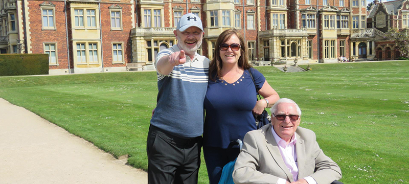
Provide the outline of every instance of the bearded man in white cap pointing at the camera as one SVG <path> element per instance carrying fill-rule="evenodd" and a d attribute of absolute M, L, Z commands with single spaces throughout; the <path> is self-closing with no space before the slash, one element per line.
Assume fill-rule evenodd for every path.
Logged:
<path fill-rule="evenodd" d="M 192 13 L 181 17 L 173 33 L 177 44 L 155 59 L 158 94 L 146 145 L 148 183 L 197 183 L 200 167 L 210 61 L 196 50 L 205 33 Z"/>

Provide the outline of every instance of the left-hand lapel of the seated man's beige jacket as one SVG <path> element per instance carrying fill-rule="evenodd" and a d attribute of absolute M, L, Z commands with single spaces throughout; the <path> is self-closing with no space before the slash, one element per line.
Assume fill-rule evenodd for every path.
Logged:
<path fill-rule="evenodd" d="M 281 156 L 276 139 L 274 139 L 274 135 L 272 135 L 271 133 L 271 128 L 272 126 L 270 124 L 266 132 L 264 132 L 265 138 L 266 138 L 265 141 L 267 142 L 266 144 L 267 149 L 270 152 L 272 158 L 274 158 L 274 160 L 276 161 L 277 165 L 280 166 L 280 168 L 287 175 L 287 179 L 290 180 L 290 182 L 293 182 L 292 174 L 290 173 L 290 171 L 288 170 L 287 166 L 284 163 L 284 160 L 283 160 L 283 157 Z"/>

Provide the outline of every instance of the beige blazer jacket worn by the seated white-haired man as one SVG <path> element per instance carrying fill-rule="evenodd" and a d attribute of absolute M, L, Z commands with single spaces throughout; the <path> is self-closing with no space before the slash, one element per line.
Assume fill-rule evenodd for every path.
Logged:
<path fill-rule="evenodd" d="M 234 183 L 277 183 L 278 178 L 293 181 L 271 127 L 271 124 L 266 125 L 244 136 L 243 148 L 234 167 Z M 313 131 L 298 127 L 296 135 L 299 178 L 311 176 L 318 184 L 329 184 L 342 177 L 338 165 L 318 146 Z"/>

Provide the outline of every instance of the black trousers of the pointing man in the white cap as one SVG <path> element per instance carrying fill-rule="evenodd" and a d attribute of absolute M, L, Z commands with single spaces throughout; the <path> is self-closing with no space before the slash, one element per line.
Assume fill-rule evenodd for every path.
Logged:
<path fill-rule="evenodd" d="M 149 127 L 148 183 L 197 183 L 202 137 L 184 139 L 155 126 Z"/>

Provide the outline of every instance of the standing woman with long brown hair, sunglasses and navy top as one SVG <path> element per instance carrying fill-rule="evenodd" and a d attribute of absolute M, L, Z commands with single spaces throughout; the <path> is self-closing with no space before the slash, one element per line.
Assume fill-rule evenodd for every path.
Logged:
<path fill-rule="evenodd" d="M 209 66 L 209 84 L 205 97 L 203 154 L 210 183 L 218 183 L 223 166 L 234 160 L 240 150 L 232 142 L 257 129 L 254 114 L 261 114 L 280 97 L 264 76 L 248 64 L 246 44 L 235 29 L 223 31 L 217 38 Z M 258 92 L 249 75 L 252 73 Z"/>

